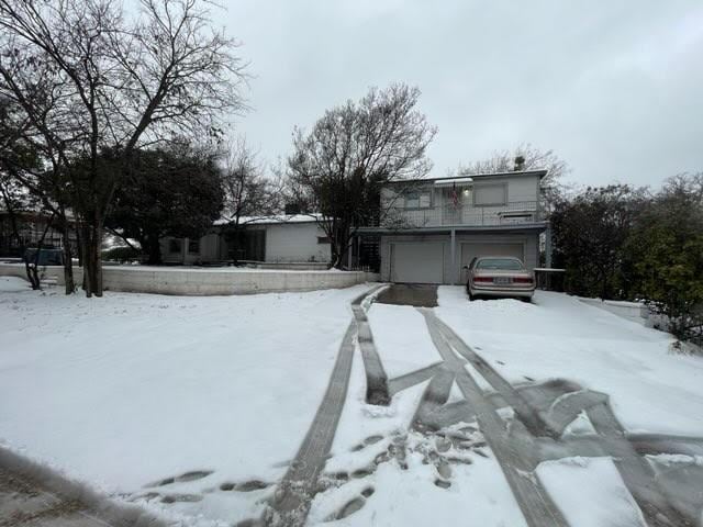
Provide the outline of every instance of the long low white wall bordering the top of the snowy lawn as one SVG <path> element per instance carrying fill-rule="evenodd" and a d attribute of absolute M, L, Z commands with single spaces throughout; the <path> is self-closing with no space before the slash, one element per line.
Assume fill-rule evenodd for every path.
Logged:
<path fill-rule="evenodd" d="M 64 284 L 64 268 L 41 268 L 42 278 Z M 362 271 L 284 271 L 265 269 L 193 269 L 182 267 L 104 266 L 105 291 L 134 293 L 226 295 L 286 291 L 342 289 L 357 283 L 378 281 L 378 274 Z M 80 283 L 82 270 L 74 268 Z M 24 266 L 0 265 L 0 276 L 25 278 Z"/>

